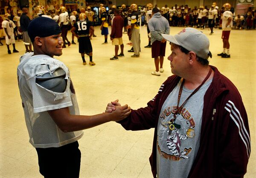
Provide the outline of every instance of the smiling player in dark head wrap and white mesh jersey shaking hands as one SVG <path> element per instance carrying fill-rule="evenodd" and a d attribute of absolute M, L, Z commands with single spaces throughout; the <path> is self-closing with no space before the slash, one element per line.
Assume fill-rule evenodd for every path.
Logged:
<path fill-rule="evenodd" d="M 29 142 L 38 153 L 44 177 L 79 178 L 81 130 L 123 119 L 130 108 L 125 105 L 112 114 L 80 116 L 69 69 L 53 58 L 62 54 L 58 24 L 37 17 L 29 23 L 28 33 L 35 52 L 20 57 L 17 76 Z"/>

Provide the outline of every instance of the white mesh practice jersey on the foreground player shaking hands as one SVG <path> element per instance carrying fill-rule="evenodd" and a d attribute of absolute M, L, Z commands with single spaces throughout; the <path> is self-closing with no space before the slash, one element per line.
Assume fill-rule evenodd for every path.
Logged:
<path fill-rule="evenodd" d="M 47 55 L 24 54 L 20 57 L 17 68 L 20 97 L 24 110 L 29 142 L 33 147 L 61 147 L 77 141 L 83 131 L 62 132 L 55 124 L 48 110 L 69 107 L 70 114 L 79 115 L 75 90 L 68 68 L 61 62 Z M 36 76 L 52 73 L 62 68 L 66 72 L 67 87 L 63 93 L 56 93 L 36 83 Z"/>

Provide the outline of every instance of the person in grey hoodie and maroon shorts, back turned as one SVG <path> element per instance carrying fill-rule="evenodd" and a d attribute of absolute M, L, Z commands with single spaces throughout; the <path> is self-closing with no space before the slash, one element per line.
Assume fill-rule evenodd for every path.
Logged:
<path fill-rule="evenodd" d="M 152 75 L 160 76 L 160 72 L 163 72 L 163 57 L 165 56 L 166 40 L 161 34 L 169 34 L 170 26 L 168 20 L 163 17 L 158 8 L 152 9 L 152 18 L 148 21 L 148 28 L 151 34 L 151 54 L 154 58 L 154 64 L 156 70 L 151 72 Z M 160 71 L 159 71 L 160 62 Z"/>

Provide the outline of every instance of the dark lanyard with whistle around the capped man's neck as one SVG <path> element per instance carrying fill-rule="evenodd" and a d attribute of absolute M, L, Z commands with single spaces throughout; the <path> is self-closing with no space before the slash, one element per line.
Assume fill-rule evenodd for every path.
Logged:
<path fill-rule="evenodd" d="M 173 117 L 172 119 L 169 121 L 169 129 L 170 130 L 174 130 L 175 129 L 175 125 L 174 125 L 174 121 L 177 117 L 177 114 L 180 112 L 180 110 L 183 108 L 183 106 L 185 105 L 185 103 L 189 100 L 189 98 L 191 96 L 193 96 L 200 88 L 202 85 L 204 85 L 204 83 L 207 81 L 207 79 L 209 78 L 209 76 L 211 75 L 212 73 L 212 68 L 210 68 L 207 76 L 205 77 L 205 79 L 203 80 L 203 82 L 201 83 L 201 85 L 198 86 L 198 88 L 196 88 L 190 95 L 189 97 L 183 102 L 182 105 L 180 105 L 179 107 L 179 104 L 180 104 L 180 97 L 181 97 L 181 93 L 182 93 L 182 90 L 183 90 L 183 85 L 184 85 L 184 82 L 185 82 L 185 79 L 183 79 L 181 85 L 180 85 L 180 90 L 179 90 L 179 96 L 178 96 L 178 102 L 177 102 L 177 110 L 175 111 L 175 113 L 173 114 Z"/>

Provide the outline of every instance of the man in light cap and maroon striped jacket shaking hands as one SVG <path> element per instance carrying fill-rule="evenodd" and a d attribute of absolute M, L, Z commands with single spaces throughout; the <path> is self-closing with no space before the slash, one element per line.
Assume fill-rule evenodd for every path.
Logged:
<path fill-rule="evenodd" d="M 118 123 L 126 130 L 154 128 L 150 157 L 154 178 L 243 177 L 250 131 L 241 95 L 209 65 L 209 39 L 195 28 L 171 36 L 172 73 L 148 106 Z M 107 112 L 119 106 L 108 104 Z"/>

